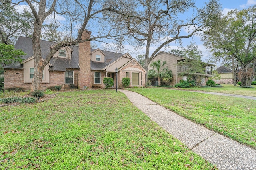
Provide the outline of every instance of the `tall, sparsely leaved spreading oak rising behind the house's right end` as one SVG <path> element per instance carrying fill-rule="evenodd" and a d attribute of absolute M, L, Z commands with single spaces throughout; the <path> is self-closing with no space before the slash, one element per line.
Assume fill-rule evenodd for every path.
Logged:
<path fill-rule="evenodd" d="M 217 0 L 210 0 L 202 8 L 194 0 L 108 0 L 120 15 L 109 15 L 120 29 L 128 29 L 131 44 L 146 46 L 145 69 L 166 45 L 189 38 L 215 22 L 220 13 Z M 150 55 L 152 45 L 157 45 Z M 146 75 L 147 80 L 147 75 Z"/>

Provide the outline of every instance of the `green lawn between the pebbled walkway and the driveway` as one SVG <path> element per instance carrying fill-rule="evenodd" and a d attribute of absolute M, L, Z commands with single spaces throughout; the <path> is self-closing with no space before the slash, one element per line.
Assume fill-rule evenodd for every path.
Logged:
<path fill-rule="evenodd" d="M 164 88 L 129 90 L 256 149 L 256 100 Z"/>

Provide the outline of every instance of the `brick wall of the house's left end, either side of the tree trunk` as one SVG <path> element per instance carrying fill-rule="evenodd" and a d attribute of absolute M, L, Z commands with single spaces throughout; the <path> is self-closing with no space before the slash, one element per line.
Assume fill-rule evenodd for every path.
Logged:
<path fill-rule="evenodd" d="M 41 89 L 45 90 L 54 86 L 64 85 L 64 72 L 50 72 L 50 83 L 42 83 Z M 4 89 L 22 88 L 30 90 L 31 83 L 24 83 L 24 76 L 22 69 L 5 69 L 4 71 Z M 64 86 L 62 86 L 62 89 Z"/>

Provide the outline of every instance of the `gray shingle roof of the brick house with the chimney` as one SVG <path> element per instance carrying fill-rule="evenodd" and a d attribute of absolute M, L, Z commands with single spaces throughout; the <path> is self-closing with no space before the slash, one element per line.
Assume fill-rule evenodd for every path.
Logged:
<path fill-rule="evenodd" d="M 42 58 L 45 59 L 46 55 L 50 51 L 50 47 L 52 45 L 54 45 L 54 42 L 41 40 L 40 43 L 41 43 Z M 15 49 L 22 49 L 22 51 L 24 51 L 24 53 L 27 54 L 25 56 L 21 56 L 21 58 L 24 60 L 33 56 L 32 38 L 20 36 L 14 47 L 15 47 Z M 50 70 L 66 71 L 66 68 L 68 68 L 68 69 L 78 69 L 79 68 L 79 66 L 78 66 L 78 64 L 79 64 L 79 56 L 78 56 L 79 47 L 78 46 L 70 46 L 70 48 L 72 50 L 71 59 L 52 57 L 52 59 L 50 60 L 50 64 L 52 64 L 53 66 L 50 67 Z M 95 51 L 95 50 L 96 49 L 91 49 L 91 52 Z M 121 53 L 114 53 L 114 52 L 104 51 L 104 50 L 102 50 L 102 52 L 106 54 L 105 62 L 100 63 L 100 62 L 91 61 L 91 70 L 102 70 L 102 68 L 113 63 L 114 61 L 116 61 L 118 58 L 120 58 L 122 56 Z M 4 68 L 22 69 L 23 64 L 13 63 L 13 64 L 4 66 Z"/>

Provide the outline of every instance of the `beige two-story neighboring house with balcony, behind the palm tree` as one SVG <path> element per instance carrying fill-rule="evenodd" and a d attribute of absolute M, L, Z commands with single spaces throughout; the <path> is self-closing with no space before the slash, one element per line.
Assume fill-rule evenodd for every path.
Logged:
<path fill-rule="evenodd" d="M 166 61 L 167 62 L 166 66 L 168 67 L 169 70 L 172 70 L 173 79 L 172 79 L 171 85 L 177 84 L 178 82 L 180 82 L 180 80 L 187 80 L 189 74 L 191 74 L 191 76 L 194 75 L 194 77 L 197 79 L 196 82 L 201 82 L 201 85 L 205 85 L 208 78 L 212 77 L 212 68 L 214 66 L 213 64 L 200 62 L 204 72 L 191 73 L 188 69 L 192 69 L 192 68 L 189 68 L 186 64 L 184 64 L 185 60 L 191 60 L 191 59 L 188 59 L 186 57 L 182 57 L 179 55 L 175 55 L 172 53 L 160 51 L 155 55 L 155 57 L 152 59 L 150 64 L 153 61 L 157 61 L 158 59 L 160 59 L 161 61 Z M 149 68 L 148 70 L 150 69 L 151 68 Z M 153 83 L 157 84 L 157 82 L 153 82 Z"/>

